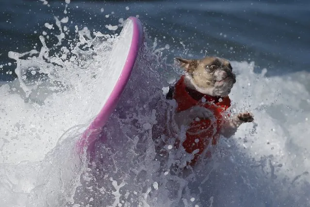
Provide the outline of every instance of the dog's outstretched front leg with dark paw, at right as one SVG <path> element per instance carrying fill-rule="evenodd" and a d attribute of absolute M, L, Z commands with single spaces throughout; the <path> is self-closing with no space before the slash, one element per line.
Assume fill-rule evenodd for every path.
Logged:
<path fill-rule="evenodd" d="M 221 129 L 221 134 L 226 138 L 230 138 L 237 132 L 238 127 L 242 123 L 252 121 L 254 121 L 253 114 L 249 112 L 239 113 L 233 116 L 232 119 L 224 121 Z"/>

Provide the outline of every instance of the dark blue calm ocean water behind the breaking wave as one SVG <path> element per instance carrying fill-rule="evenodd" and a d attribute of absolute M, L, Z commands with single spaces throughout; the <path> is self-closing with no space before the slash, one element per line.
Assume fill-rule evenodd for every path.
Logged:
<path fill-rule="evenodd" d="M 0 64 L 10 62 L 8 51 L 29 51 L 40 44 L 38 36 L 44 23 L 62 14 L 65 4 L 61 0 L 50 3 L 52 6 L 46 7 L 39 1 L 2 0 Z M 106 18 L 111 12 L 114 15 Z M 149 35 L 164 40 L 172 48 L 174 40 L 180 40 L 197 57 L 206 53 L 236 61 L 255 61 L 260 68 L 267 68 L 270 75 L 309 71 L 308 0 L 75 0 L 68 12 L 74 24 L 90 30 L 100 30 L 121 17 L 136 15 Z M 181 48 L 171 52 L 171 58 L 182 52 Z M 0 80 L 12 79 L 6 75 L 12 68 L 5 66 Z"/>

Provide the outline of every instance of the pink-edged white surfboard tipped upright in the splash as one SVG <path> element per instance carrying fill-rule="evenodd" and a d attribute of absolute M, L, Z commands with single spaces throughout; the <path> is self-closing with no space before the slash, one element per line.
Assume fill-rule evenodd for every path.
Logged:
<path fill-rule="evenodd" d="M 102 88 L 102 92 L 109 94 L 108 98 L 102 101 L 100 112 L 77 142 L 77 149 L 80 153 L 83 153 L 84 149 L 87 149 L 87 152 L 93 151 L 102 127 L 109 119 L 121 93 L 129 81 L 142 42 L 143 27 L 140 20 L 136 17 L 129 17 L 110 55 L 109 63 L 113 72 L 105 77 L 110 85 L 109 88 Z"/>

